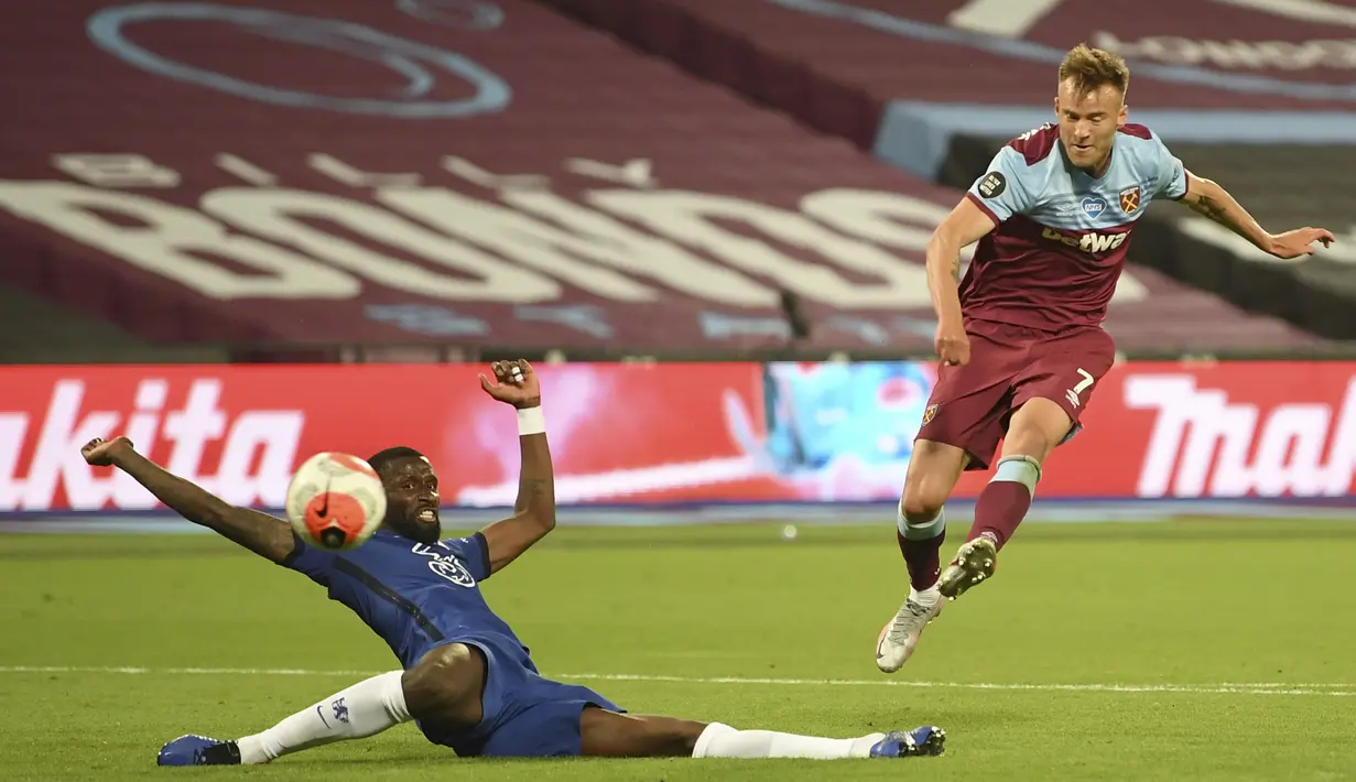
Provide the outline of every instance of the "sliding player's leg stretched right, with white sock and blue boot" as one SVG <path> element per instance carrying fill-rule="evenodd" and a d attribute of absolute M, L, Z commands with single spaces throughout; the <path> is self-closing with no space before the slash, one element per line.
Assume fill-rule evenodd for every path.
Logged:
<path fill-rule="evenodd" d="M 933 726 L 823 739 L 603 709 L 584 709 L 579 732 L 582 754 L 597 758 L 913 758 L 941 755 L 946 741 L 945 732 Z"/>

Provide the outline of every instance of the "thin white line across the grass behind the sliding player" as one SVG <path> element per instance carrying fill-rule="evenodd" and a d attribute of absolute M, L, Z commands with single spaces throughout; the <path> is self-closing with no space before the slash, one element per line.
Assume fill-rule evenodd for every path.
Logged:
<path fill-rule="evenodd" d="M 137 668 L 81 665 L 4 665 L 0 674 L 133 674 L 218 676 L 376 676 L 385 671 L 311 668 Z M 1166 693 L 1193 695 L 1336 695 L 1356 697 L 1356 683 L 1294 684 L 1285 682 L 1224 684 L 1020 684 L 998 682 L 917 682 L 911 679 L 759 679 L 746 676 L 664 676 L 652 674 L 553 674 L 556 679 L 594 682 L 662 682 L 675 684 L 765 684 L 780 687 L 914 687 L 1035 693 Z"/>

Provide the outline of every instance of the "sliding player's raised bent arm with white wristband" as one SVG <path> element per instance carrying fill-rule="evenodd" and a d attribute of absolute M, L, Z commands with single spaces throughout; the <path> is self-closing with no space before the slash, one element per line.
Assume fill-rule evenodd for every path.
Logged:
<path fill-rule="evenodd" d="M 503 569 L 556 529 L 556 477 L 541 416 L 541 385 L 532 365 L 525 361 L 495 362 L 494 371 L 496 382 L 491 384 L 481 375 L 480 386 L 494 398 L 517 408 L 522 469 L 514 515 L 481 530 L 490 552 L 491 573 Z"/>

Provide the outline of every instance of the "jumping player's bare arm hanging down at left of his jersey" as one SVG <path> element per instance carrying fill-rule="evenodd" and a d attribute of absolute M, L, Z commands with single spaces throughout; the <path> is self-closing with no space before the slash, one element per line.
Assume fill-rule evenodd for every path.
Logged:
<path fill-rule="evenodd" d="M 970 361 L 970 340 L 960 316 L 960 251 L 983 239 L 995 226 L 967 195 L 928 240 L 928 291 L 937 312 L 937 356 L 944 363 Z"/>

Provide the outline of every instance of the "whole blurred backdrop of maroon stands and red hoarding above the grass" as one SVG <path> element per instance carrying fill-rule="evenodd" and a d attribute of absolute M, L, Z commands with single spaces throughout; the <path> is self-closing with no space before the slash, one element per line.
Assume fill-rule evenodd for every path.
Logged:
<path fill-rule="evenodd" d="M 1078 42 L 1264 226 L 1338 244 L 1153 206 L 1033 515 L 1349 512 L 1349 3 L 64 0 L 0 8 L 0 515 L 161 523 L 80 461 L 127 432 L 268 508 L 311 453 L 414 446 L 473 519 L 518 466 L 476 374 L 522 356 L 567 520 L 884 523 L 923 245 Z"/>

